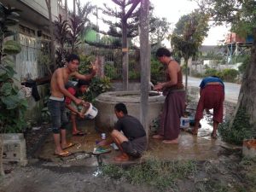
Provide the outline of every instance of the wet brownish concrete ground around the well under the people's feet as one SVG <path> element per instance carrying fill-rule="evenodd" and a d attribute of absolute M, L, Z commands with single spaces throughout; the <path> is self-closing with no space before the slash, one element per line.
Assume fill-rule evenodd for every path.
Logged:
<path fill-rule="evenodd" d="M 154 156 L 161 160 L 210 160 L 218 157 L 218 151 L 222 147 L 227 147 L 228 144 L 221 142 L 218 138 L 214 140 L 210 137 L 212 132 L 212 115 L 205 115 L 201 119 L 201 129 L 198 136 L 192 136 L 186 131 L 181 131 L 178 144 L 164 144 L 160 140 L 154 140 L 149 137 L 148 150 L 145 155 Z M 119 151 L 111 148 L 108 154 L 94 155 L 93 149 L 96 147 L 96 141 L 101 140 L 101 132 L 96 131 L 93 120 L 79 121 L 79 130 L 86 132 L 86 135 L 72 136 L 70 130 L 67 131 L 67 140 L 76 143 L 68 151 L 73 154 L 60 158 L 54 154 L 54 140 L 52 134 L 45 140 L 43 147 L 38 150 L 36 156 L 41 160 L 47 160 L 55 164 L 67 164 L 68 166 L 98 166 L 99 164 L 120 164 L 113 160 L 114 156 L 119 154 Z M 107 138 L 109 133 L 107 133 Z M 142 158 L 143 159 L 143 158 Z M 129 160 L 121 162 L 122 165 L 134 164 L 140 161 Z"/>

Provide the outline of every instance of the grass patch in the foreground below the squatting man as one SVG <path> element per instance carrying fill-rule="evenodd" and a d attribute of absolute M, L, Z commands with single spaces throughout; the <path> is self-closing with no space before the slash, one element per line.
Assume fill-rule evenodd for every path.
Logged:
<path fill-rule="evenodd" d="M 196 172 L 194 161 L 163 161 L 150 158 L 144 162 L 123 168 L 102 166 L 102 174 L 112 178 L 125 178 L 132 184 L 145 184 L 160 191 L 176 188 L 177 179 L 189 177 Z"/>

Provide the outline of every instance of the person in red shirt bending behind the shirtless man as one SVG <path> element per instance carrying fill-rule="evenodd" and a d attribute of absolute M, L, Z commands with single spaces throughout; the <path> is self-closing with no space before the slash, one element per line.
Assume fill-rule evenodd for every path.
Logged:
<path fill-rule="evenodd" d="M 76 85 L 73 85 L 72 83 L 67 83 L 66 84 L 66 89 L 70 94 L 73 96 L 79 98 L 80 96 L 83 96 L 83 94 L 88 90 L 90 82 L 85 81 L 82 79 L 79 79 L 79 82 Z M 77 116 L 79 118 L 84 119 L 84 114 L 81 113 L 81 108 L 77 106 L 70 97 L 66 96 L 65 99 L 65 105 L 66 108 L 70 110 L 70 119 L 72 122 L 72 134 L 73 136 L 84 136 L 84 133 L 82 131 L 79 131 L 77 128 Z M 86 108 L 89 108 L 90 103 L 89 102 L 84 102 L 84 106 Z"/>

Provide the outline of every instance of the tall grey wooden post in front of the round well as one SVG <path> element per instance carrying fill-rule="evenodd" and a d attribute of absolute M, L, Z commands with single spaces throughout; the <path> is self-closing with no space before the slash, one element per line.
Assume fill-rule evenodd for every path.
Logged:
<path fill-rule="evenodd" d="M 141 1 L 141 15 L 140 15 L 140 47 L 141 47 L 141 122 L 147 133 L 149 131 L 148 125 L 148 88 L 150 79 L 150 46 L 148 40 L 148 0 Z"/>

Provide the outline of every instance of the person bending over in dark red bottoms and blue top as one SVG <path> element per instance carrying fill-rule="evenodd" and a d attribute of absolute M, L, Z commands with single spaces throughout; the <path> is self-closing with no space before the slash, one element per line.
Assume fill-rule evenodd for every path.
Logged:
<path fill-rule="evenodd" d="M 223 121 L 224 110 L 224 83 L 216 76 L 202 79 L 200 84 L 200 99 L 195 113 L 195 127 L 189 133 L 197 135 L 200 120 L 203 118 L 203 111 L 213 108 L 213 131 L 211 137 L 217 138 L 218 124 Z"/>

